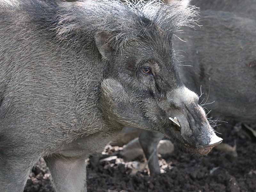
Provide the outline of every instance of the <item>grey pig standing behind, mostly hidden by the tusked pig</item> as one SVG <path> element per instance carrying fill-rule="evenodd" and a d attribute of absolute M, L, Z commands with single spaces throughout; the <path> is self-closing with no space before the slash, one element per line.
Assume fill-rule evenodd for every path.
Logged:
<path fill-rule="evenodd" d="M 184 29 L 178 36 L 185 42 L 174 41 L 174 48 L 185 52 L 179 52 L 184 55 L 184 66 L 179 68 L 182 81 L 197 94 L 204 93 L 199 103 L 212 110 L 211 116 L 255 123 L 256 1 L 194 0 L 191 4 L 201 7 L 202 26 Z M 155 149 L 162 138 L 161 133 L 147 131 L 139 137 L 146 157 L 155 153 L 148 164 L 151 174 L 160 173 Z"/>

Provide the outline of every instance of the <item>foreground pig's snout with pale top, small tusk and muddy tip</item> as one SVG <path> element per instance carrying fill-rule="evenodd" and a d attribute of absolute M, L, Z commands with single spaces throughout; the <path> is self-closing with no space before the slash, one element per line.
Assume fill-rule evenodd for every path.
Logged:
<path fill-rule="evenodd" d="M 206 155 L 222 142 L 209 124 L 203 108 L 198 105 L 198 96 L 184 87 L 173 94 L 174 108 L 168 115 L 176 134 L 192 153 Z"/>

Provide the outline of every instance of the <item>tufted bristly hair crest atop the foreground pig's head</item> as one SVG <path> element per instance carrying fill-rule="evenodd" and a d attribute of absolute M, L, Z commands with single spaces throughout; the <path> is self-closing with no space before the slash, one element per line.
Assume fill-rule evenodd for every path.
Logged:
<path fill-rule="evenodd" d="M 194 6 L 164 4 L 161 0 L 86 0 L 61 3 L 52 27 L 61 40 L 75 34 L 76 41 L 89 42 L 87 45 L 92 44 L 96 33 L 104 31 L 108 43 L 122 51 L 126 43 L 140 38 L 154 40 L 161 36 L 171 42 L 181 26 L 194 27 L 197 16 Z"/>

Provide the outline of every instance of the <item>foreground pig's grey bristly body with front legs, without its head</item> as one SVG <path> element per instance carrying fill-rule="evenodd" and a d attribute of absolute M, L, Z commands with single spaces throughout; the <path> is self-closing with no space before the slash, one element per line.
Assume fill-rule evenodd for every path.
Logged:
<path fill-rule="evenodd" d="M 42 156 L 57 192 L 84 191 L 84 160 L 111 138 L 98 107 L 104 64 L 93 52 L 56 44 L 46 29 L 46 20 L 56 14 L 49 10 L 58 6 L 55 1 L 5 3 L 0 3 L 5 34 L 0 40 L 0 191 L 21 192 Z M 70 177 L 73 183 L 65 182 Z"/>

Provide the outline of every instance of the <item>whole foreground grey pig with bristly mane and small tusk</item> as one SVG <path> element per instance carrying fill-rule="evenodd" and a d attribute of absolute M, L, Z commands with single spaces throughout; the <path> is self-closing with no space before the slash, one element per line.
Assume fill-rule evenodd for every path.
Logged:
<path fill-rule="evenodd" d="M 196 15 L 156 1 L 1 0 L 0 191 L 21 192 L 40 157 L 56 192 L 86 191 L 85 159 L 124 126 L 199 154 L 219 144 L 172 48 Z"/>

